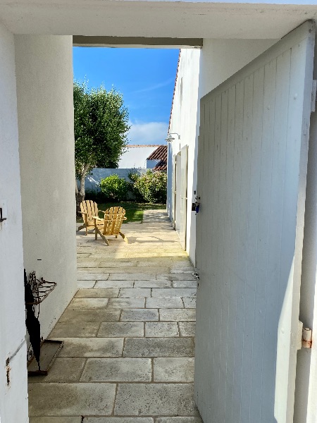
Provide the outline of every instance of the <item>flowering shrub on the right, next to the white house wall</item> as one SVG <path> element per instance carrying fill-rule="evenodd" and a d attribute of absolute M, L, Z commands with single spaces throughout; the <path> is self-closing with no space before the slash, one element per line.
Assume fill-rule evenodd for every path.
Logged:
<path fill-rule="evenodd" d="M 144 202 L 166 204 L 166 187 L 166 173 L 149 170 L 135 178 L 133 190 L 137 199 Z"/>

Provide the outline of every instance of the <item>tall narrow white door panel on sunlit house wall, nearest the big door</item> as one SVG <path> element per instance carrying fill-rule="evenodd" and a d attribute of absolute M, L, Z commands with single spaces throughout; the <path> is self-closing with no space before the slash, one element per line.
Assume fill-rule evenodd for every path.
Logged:
<path fill-rule="evenodd" d="M 186 250 L 188 146 L 180 151 L 180 245 Z"/>

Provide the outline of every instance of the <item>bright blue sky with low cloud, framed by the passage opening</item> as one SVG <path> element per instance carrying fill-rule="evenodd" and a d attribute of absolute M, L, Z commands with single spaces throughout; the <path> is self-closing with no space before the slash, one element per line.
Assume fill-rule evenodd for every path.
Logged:
<path fill-rule="evenodd" d="M 177 49 L 73 48 L 74 78 L 123 94 L 130 144 L 163 144 L 168 132 Z"/>

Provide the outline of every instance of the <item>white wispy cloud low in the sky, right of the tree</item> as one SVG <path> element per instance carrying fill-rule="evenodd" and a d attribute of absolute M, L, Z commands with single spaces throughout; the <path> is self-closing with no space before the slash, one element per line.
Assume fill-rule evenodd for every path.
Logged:
<path fill-rule="evenodd" d="M 163 144 L 168 133 L 166 122 L 130 122 L 130 125 L 130 144 Z"/>

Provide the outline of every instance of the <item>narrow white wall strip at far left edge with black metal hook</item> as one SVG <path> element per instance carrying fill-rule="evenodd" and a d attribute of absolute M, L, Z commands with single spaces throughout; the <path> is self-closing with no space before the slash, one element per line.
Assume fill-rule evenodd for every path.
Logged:
<path fill-rule="evenodd" d="M 0 421 L 25 423 L 27 370 L 23 242 L 13 35 L 0 25 Z M 0 204 L 0 207 L 1 207 Z M 10 357 L 10 383 L 6 360 Z"/>

